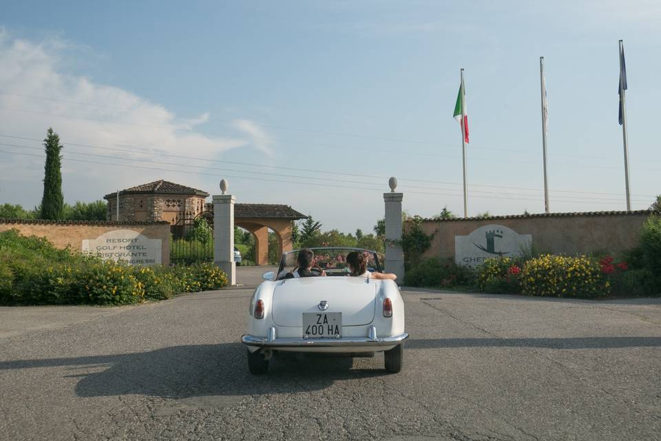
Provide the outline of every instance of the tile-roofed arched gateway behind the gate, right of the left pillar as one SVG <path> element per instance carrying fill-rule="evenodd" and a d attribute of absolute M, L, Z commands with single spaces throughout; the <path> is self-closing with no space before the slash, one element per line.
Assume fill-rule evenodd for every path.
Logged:
<path fill-rule="evenodd" d="M 255 236 L 255 263 L 269 264 L 269 228 L 277 236 L 278 255 L 291 251 L 291 226 L 293 220 L 304 219 L 288 205 L 235 204 L 234 225 L 248 230 Z"/>

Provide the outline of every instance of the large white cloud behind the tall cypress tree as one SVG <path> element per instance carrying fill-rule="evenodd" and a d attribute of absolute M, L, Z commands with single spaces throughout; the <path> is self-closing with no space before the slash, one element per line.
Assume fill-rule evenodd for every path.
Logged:
<path fill-rule="evenodd" d="M 130 187 L 159 178 L 183 179 L 182 183 L 202 189 L 204 183 L 209 181 L 208 177 L 194 173 L 182 178 L 182 174 L 162 170 L 104 167 L 102 164 L 71 161 L 73 158 L 105 164 L 122 163 L 124 158 L 182 163 L 181 160 L 155 158 L 145 153 L 216 158 L 218 154 L 237 147 L 256 147 L 271 153 L 269 136 L 252 121 L 234 123 L 244 136 L 203 134 L 197 130 L 209 121 L 210 116 L 206 112 L 195 118 L 180 118 L 162 105 L 132 92 L 67 72 L 70 65 L 67 50 L 72 47 L 75 48 L 75 45 L 56 37 L 41 42 L 15 39 L 0 28 L 0 134 L 43 139 L 48 127 L 53 127 L 65 145 L 63 181 L 67 201 L 70 198 L 100 198 L 117 187 Z M 41 147 L 38 141 L 2 136 L 0 143 Z M 133 152 L 104 152 L 76 147 L 73 143 L 117 147 Z M 16 202 L 30 205 L 41 198 L 41 194 L 33 194 L 34 187 L 38 185 L 21 185 L 20 181 L 36 178 L 40 183 L 43 158 L 9 155 L 8 148 L 19 150 L 0 145 L 0 157 L 3 158 L 0 197 L 3 200 L 13 197 Z M 31 149 L 25 149 L 23 153 L 43 155 L 43 152 Z M 103 154 L 116 156 L 116 159 L 74 153 Z M 208 162 L 185 160 L 185 164 L 207 165 Z M 176 165 L 143 165 L 178 168 Z M 186 171 L 191 172 L 191 169 Z"/>

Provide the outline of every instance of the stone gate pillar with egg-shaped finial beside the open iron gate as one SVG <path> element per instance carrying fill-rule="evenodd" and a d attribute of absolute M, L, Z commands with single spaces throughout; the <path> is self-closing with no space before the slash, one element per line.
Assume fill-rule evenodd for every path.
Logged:
<path fill-rule="evenodd" d="M 225 194 L 227 181 L 220 181 L 222 194 L 213 196 L 213 263 L 227 274 L 229 285 L 236 285 L 234 263 L 234 196 Z"/>

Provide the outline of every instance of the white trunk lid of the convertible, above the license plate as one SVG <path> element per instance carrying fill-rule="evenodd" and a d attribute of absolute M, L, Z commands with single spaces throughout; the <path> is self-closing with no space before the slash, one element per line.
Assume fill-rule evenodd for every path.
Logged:
<path fill-rule="evenodd" d="M 303 313 L 341 312 L 342 326 L 368 325 L 374 320 L 377 283 L 361 277 L 306 277 L 284 280 L 273 291 L 273 322 L 302 327 Z"/>

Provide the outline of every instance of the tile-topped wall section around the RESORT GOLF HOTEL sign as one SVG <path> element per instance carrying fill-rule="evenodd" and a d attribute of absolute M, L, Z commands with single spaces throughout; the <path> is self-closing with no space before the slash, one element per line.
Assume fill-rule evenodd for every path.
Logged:
<path fill-rule="evenodd" d="M 7 220 L 0 219 L 0 232 L 17 229 L 24 236 L 45 237 L 57 248 L 81 250 L 83 239 L 98 236 L 116 229 L 130 229 L 150 239 L 162 242 L 162 265 L 170 264 L 170 225 L 167 222 L 110 222 L 86 220 Z"/>

